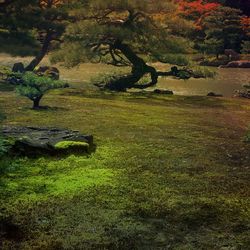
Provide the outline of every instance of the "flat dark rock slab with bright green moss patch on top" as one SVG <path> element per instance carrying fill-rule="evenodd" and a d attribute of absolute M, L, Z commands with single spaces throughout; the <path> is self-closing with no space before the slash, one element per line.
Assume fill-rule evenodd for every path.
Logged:
<path fill-rule="evenodd" d="M 5 126 L 2 134 L 11 141 L 14 154 L 89 153 L 94 146 L 92 135 L 58 128 Z"/>

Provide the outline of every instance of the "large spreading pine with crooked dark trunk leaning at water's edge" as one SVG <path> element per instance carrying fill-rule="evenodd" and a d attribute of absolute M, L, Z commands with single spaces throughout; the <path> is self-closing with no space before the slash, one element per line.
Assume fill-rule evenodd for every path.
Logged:
<path fill-rule="evenodd" d="M 169 72 L 160 72 L 145 62 L 150 58 L 167 63 L 169 54 L 180 59 L 179 54 L 188 51 L 189 42 L 178 34 L 172 22 L 175 11 L 172 1 L 90 1 L 80 11 L 81 21 L 68 27 L 66 43 L 56 59 L 70 66 L 84 61 L 130 66 L 129 74 L 114 77 L 103 86 L 117 91 L 154 86 L 159 76 L 182 78 L 184 71 L 185 77 L 191 77 L 192 71 L 173 67 Z M 186 61 L 185 57 L 179 61 Z M 150 81 L 138 83 L 145 75 L 150 76 Z"/>

